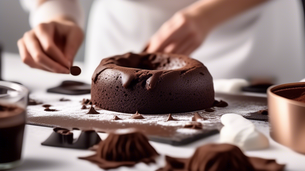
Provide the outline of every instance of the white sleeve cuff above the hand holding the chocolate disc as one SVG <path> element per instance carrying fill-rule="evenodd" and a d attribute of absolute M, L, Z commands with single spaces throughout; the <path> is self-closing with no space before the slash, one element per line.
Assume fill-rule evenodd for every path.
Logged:
<path fill-rule="evenodd" d="M 39 0 L 20 0 L 20 4 L 24 10 L 30 12 L 29 22 L 32 28 L 59 16 L 72 19 L 84 28 L 84 11 L 78 0 L 48 0 L 41 5 Z"/>

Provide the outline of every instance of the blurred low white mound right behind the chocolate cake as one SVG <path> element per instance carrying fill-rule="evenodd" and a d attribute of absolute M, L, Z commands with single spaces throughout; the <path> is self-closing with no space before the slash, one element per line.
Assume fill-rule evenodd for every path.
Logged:
<path fill-rule="evenodd" d="M 242 87 L 249 86 L 249 82 L 245 79 L 216 79 L 213 80 L 215 92 L 241 92 Z"/>

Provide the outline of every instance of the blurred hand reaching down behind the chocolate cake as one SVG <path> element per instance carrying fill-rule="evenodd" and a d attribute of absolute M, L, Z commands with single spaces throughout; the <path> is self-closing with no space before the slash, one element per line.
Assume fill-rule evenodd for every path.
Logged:
<path fill-rule="evenodd" d="M 188 12 L 177 12 L 151 37 L 146 52 L 191 54 L 205 39 L 210 27 Z"/>

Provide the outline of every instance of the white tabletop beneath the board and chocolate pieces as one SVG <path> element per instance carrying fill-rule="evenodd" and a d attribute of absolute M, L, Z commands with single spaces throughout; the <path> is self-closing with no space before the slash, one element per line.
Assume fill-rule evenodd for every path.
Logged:
<path fill-rule="evenodd" d="M 2 78 L 8 81 L 21 82 L 27 86 L 30 91 L 38 89 L 46 89 L 58 85 L 63 80 L 79 80 L 86 82 L 90 81 L 89 77 L 85 77 L 82 73 L 79 76 L 53 74 L 37 69 L 31 69 L 24 65 L 19 55 L 4 53 L 2 55 Z M 75 63 L 75 65 L 82 68 L 82 63 Z M 270 148 L 259 151 L 247 151 L 248 156 L 256 156 L 268 159 L 276 159 L 278 163 L 286 164 L 286 170 L 289 171 L 301 171 L 305 170 L 305 155 L 293 152 L 289 148 L 282 146 L 273 141 L 269 136 L 268 124 L 262 121 L 255 121 L 255 125 L 258 130 L 262 131 L 270 140 Z M 23 143 L 23 164 L 15 169 L 18 171 L 78 171 L 78 170 L 102 170 L 90 162 L 77 159 L 80 156 L 91 155 L 94 152 L 88 150 L 76 150 L 68 148 L 56 148 L 42 146 L 43 142 L 52 133 L 50 127 L 40 127 L 33 125 L 26 125 L 25 137 Z M 79 132 L 76 132 L 77 136 Z M 100 134 L 101 138 L 106 138 L 106 134 Z M 217 142 L 219 134 L 196 141 L 189 145 L 184 146 L 171 146 L 167 144 L 152 142 L 152 146 L 161 155 L 170 155 L 174 157 L 189 157 L 192 155 L 196 147 L 204 145 L 206 143 Z M 149 166 L 144 163 L 137 164 L 133 168 L 120 167 L 113 170 L 155 170 L 162 165 L 162 157 L 160 157 L 157 164 L 151 164 Z M 159 166 L 158 166 L 159 165 Z"/>

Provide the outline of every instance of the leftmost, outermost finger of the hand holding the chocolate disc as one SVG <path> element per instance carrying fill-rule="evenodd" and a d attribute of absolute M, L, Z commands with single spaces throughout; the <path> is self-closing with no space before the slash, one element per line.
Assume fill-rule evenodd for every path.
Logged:
<path fill-rule="evenodd" d="M 24 44 L 23 39 L 19 39 L 17 41 L 17 46 L 18 46 L 18 50 L 19 50 L 19 54 L 21 57 L 21 60 L 23 61 L 23 63 L 27 64 L 28 66 L 30 66 L 31 68 L 37 68 L 37 69 L 41 69 L 41 70 L 45 70 L 45 71 L 49 71 L 43 67 L 41 67 L 40 65 L 37 65 L 35 63 L 35 61 L 33 60 L 33 58 L 31 57 L 31 55 L 29 54 L 29 52 L 27 51 L 27 48 Z M 49 71 L 50 72 L 50 71 Z"/>

